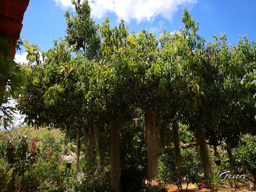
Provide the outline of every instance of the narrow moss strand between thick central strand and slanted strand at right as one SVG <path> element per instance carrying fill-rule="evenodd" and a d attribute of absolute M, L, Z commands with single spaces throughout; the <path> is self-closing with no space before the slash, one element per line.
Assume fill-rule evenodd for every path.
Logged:
<path fill-rule="evenodd" d="M 176 120 L 173 121 L 172 127 L 172 138 L 174 144 L 174 152 L 175 152 L 175 163 L 176 163 L 176 176 L 178 178 L 177 184 L 181 189 L 182 182 L 182 157 L 180 153 L 180 135 L 178 131 L 178 123 Z"/>

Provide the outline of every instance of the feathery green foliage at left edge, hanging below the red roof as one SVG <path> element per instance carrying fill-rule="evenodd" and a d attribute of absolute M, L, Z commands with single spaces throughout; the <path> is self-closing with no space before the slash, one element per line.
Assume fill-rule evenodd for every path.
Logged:
<path fill-rule="evenodd" d="M 16 43 L 16 42 L 15 42 Z M 3 126 L 7 128 L 14 119 L 15 107 L 11 99 L 18 97 L 22 86 L 26 83 L 23 66 L 14 61 L 13 42 L 8 34 L 0 35 L 0 111 L 3 116 Z M 23 41 L 19 39 L 17 49 Z"/>

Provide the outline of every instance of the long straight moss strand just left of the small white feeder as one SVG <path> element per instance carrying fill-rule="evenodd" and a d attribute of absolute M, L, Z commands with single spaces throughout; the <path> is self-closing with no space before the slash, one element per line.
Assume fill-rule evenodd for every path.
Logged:
<path fill-rule="evenodd" d="M 114 121 L 110 128 L 110 177 L 111 187 L 114 192 L 119 191 L 120 183 L 120 165 L 119 165 L 119 127 L 117 121 Z"/>

